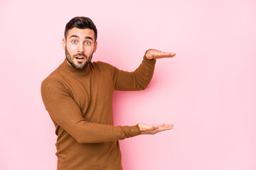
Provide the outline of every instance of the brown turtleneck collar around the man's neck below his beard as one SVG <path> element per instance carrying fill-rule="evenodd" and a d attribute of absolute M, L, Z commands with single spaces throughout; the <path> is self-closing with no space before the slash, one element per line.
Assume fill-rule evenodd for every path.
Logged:
<path fill-rule="evenodd" d="M 83 69 L 75 69 L 71 66 L 68 61 L 65 59 L 62 64 L 60 64 L 60 68 L 63 69 L 65 72 L 69 74 L 78 75 L 78 76 L 85 76 L 87 75 L 92 69 L 92 62 L 87 64 L 87 66 Z"/>

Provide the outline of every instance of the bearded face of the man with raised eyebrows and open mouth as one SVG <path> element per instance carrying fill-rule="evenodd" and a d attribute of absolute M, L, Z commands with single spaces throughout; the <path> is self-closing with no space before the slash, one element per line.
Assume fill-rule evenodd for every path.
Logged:
<path fill-rule="evenodd" d="M 97 49 L 94 31 L 89 28 L 71 28 L 67 39 L 63 38 L 63 49 L 70 65 L 75 69 L 85 68 Z"/>

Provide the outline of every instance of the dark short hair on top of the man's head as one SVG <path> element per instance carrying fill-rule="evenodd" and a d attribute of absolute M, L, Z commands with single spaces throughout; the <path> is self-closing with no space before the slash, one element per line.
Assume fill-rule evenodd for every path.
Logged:
<path fill-rule="evenodd" d="M 74 27 L 80 28 L 80 29 L 89 28 L 93 30 L 95 33 L 95 41 L 97 40 L 97 28 L 90 18 L 85 16 L 77 16 L 75 18 L 72 18 L 65 26 L 65 33 L 64 33 L 65 39 L 67 39 L 68 30 Z"/>

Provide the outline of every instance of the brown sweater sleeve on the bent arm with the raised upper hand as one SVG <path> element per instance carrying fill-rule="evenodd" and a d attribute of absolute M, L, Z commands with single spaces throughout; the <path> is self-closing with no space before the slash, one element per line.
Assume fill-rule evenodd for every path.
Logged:
<path fill-rule="evenodd" d="M 137 91 L 146 89 L 153 74 L 156 60 L 143 57 L 142 64 L 134 72 L 124 72 L 115 68 L 114 89 L 119 91 Z"/>

